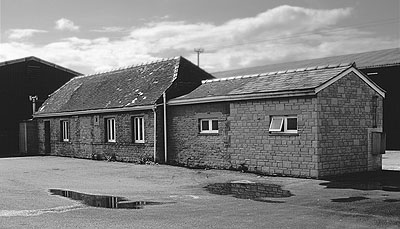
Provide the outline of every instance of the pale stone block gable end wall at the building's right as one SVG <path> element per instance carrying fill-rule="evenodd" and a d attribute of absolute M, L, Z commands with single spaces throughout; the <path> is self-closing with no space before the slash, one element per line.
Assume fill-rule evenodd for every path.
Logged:
<path fill-rule="evenodd" d="M 349 73 L 318 93 L 317 109 L 320 177 L 367 171 L 372 163 L 370 170 L 381 168 L 381 155 L 368 152 L 369 132 L 382 131 L 383 98 L 379 94 Z"/>

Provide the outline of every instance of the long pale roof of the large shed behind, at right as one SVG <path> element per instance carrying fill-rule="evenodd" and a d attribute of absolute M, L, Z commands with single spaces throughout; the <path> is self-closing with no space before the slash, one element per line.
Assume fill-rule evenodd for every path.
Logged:
<path fill-rule="evenodd" d="M 242 68 L 223 72 L 214 72 L 217 78 L 259 74 L 263 72 L 280 71 L 286 69 L 297 69 L 310 66 L 323 66 L 331 63 L 352 63 L 355 62 L 358 69 L 373 68 L 381 66 L 400 65 L 400 48 L 384 49 L 372 52 L 355 53 L 341 56 L 331 56 L 318 59 L 301 60 L 278 64 L 269 64 L 257 67 Z"/>

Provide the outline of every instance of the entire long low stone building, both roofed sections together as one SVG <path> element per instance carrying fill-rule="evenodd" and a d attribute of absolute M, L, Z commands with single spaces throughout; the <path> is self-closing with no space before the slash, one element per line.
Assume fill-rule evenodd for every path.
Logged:
<path fill-rule="evenodd" d="M 178 57 L 76 77 L 34 118 L 44 155 L 320 178 L 381 169 L 384 97 L 354 64 L 216 79 Z"/>

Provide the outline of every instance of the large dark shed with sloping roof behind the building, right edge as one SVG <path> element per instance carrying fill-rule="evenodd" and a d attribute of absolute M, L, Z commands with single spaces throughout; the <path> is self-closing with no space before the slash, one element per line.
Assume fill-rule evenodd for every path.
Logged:
<path fill-rule="evenodd" d="M 323 66 L 330 63 L 355 62 L 357 69 L 386 91 L 383 107 L 383 130 L 386 133 L 387 149 L 400 150 L 400 90 L 397 78 L 400 72 L 400 48 L 383 49 L 318 59 L 299 60 L 277 64 L 268 64 L 250 68 L 241 68 L 212 73 L 217 78 L 237 75 L 260 74 L 285 69 L 298 69 L 310 66 Z"/>

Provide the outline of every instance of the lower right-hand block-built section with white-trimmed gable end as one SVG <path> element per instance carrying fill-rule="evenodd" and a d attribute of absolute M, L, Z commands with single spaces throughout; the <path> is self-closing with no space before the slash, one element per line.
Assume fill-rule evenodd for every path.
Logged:
<path fill-rule="evenodd" d="M 168 158 L 295 177 L 380 170 L 384 97 L 353 64 L 205 80 L 168 102 Z"/>

